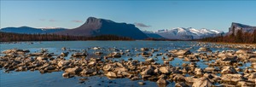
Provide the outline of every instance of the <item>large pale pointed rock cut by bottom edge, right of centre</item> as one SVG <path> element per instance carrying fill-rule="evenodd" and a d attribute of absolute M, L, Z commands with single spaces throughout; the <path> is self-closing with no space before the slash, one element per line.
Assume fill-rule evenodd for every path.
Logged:
<path fill-rule="evenodd" d="M 212 87 L 212 82 L 205 77 L 195 79 L 192 87 Z"/>

